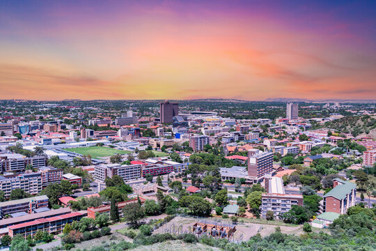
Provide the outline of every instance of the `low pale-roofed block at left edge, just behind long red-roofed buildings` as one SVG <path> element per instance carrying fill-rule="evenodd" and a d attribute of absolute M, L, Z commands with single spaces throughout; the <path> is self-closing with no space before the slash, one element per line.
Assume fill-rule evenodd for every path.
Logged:
<path fill-rule="evenodd" d="M 0 217 L 10 213 L 27 212 L 33 213 L 36 208 L 47 208 L 48 197 L 46 195 L 16 199 L 13 201 L 0 202 Z"/>

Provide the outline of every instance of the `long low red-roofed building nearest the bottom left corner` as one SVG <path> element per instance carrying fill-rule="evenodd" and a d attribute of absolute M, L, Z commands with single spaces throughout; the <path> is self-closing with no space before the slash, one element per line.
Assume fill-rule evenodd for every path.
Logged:
<path fill-rule="evenodd" d="M 61 234 L 65 224 L 71 224 L 73 221 L 79 221 L 84 217 L 84 213 L 67 213 L 65 215 L 58 215 L 51 218 L 43 218 L 25 222 L 8 227 L 8 234 L 10 237 L 17 234 L 22 234 L 24 237 L 33 236 L 37 231 L 47 231 L 49 234 Z"/>

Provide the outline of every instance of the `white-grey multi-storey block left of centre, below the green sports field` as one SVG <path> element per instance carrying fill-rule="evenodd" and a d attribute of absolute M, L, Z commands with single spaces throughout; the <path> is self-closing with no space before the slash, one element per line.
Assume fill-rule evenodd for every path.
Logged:
<path fill-rule="evenodd" d="M 101 164 L 95 165 L 94 176 L 97 181 L 104 182 L 107 177 L 118 175 L 124 181 L 141 177 L 141 165 Z"/>

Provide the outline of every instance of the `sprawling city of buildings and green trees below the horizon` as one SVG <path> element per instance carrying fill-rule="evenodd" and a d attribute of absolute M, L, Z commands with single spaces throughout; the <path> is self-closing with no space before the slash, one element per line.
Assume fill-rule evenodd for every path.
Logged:
<path fill-rule="evenodd" d="M 1 246 L 375 250 L 375 113 L 361 102 L 1 100 Z"/>

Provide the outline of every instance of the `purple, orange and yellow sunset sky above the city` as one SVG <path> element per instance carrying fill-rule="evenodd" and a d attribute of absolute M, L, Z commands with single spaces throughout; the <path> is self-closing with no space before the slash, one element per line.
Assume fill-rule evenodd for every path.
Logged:
<path fill-rule="evenodd" d="M 0 99 L 375 99 L 376 1 L 0 1 Z"/>

